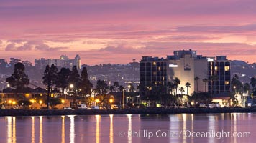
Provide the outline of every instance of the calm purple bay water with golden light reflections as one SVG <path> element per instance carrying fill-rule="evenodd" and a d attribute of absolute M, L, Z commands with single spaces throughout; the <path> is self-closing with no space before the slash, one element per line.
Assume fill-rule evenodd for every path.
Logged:
<path fill-rule="evenodd" d="M 255 113 L 0 117 L 0 142 L 255 141 Z"/>

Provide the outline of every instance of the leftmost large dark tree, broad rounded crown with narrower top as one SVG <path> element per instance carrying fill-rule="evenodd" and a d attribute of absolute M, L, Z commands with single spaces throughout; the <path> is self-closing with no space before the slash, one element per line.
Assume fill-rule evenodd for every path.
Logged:
<path fill-rule="evenodd" d="M 14 65 L 14 73 L 11 77 L 6 78 L 6 82 L 8 82 L 11 87 L 14 87 L 16 92 L 22 91 L 24 87 L 29 84 L 29 77 L 24 71 L 25 66 L 18 62 Z"/>

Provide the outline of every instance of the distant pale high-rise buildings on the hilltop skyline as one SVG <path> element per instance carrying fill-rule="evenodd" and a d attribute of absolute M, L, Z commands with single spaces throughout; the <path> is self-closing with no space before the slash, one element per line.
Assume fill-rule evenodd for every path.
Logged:
<path fill-rule="evenodd" d="M 76 66 L 78 69 L 81 69 L 81 58 L 77 54 L 74 59 L 69 59 L 68 56 L 65 55 L 60 56 L 60 59 L 35 59 L 35 66 L 38 69 L 45 69 L 45 66 L 52 64 L 66 68 L 72 68 L 73 66 Z"/>

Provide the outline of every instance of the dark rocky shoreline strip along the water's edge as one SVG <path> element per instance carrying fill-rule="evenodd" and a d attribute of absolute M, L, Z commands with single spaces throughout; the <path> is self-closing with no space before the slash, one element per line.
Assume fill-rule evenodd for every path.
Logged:
<path fill-rule="evenodd" d="M 95 114 L 207 114 L 207 113 L 251 113 L 256 108 L 149 108 L 149 109 L 0 109 L 0 117 L 6 116 L 60 116 Z"/>

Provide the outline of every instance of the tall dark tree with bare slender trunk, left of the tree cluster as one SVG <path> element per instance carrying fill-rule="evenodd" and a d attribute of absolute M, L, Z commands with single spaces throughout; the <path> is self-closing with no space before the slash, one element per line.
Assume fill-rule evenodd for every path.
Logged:
<path fill-rule="evenodd" d="M 50 92 L 52 92 L 52 87 L 56 84 L 58 78 L 58 69 L 52 64 L 52 66 L 47 65 L 45 67 L 45 73 L 43 79 L 43 84 L 47 86 L 47 109 L 49 109 L 49 98 Z"/>

